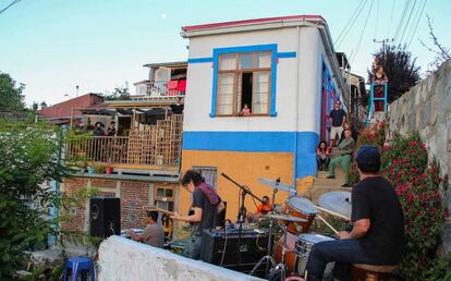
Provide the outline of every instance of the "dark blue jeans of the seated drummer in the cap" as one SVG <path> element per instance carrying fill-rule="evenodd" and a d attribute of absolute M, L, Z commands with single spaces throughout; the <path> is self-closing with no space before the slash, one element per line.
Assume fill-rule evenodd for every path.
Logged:
<path fill-rule="evenodd" d="M 334 240 L 319 242 L 313 245 L 306 271 L 307 281 L 320 281 L 328 262 L 336 261 L 333 278 L 340 281 L 350 279 L 351 264 L 371 264 L 371 260 L 363 253 L 361 244 L 356 240 Z"/>

